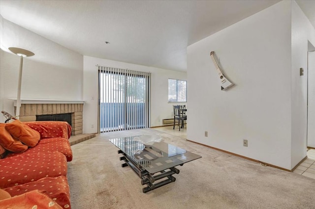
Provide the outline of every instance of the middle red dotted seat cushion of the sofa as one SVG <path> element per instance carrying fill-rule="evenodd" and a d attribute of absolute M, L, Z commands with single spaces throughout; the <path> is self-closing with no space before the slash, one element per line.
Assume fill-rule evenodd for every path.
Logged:
<path fill-rule="evenodd" d="M 66 176 L 67 161 L 60 152 L 20 154 L 0 160 L 0 188 L 29 183 L 44 177 Z"/>

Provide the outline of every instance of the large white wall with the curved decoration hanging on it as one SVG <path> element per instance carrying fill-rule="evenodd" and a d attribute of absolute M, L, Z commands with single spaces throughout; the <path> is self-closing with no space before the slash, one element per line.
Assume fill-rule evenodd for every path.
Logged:
<path fill-rule="evenodd" d="M 189 140 L 291 169 L 290 4 L 281 1 L 188 47 Z M 236 84 L 227 91 L 211 51 Z"/>

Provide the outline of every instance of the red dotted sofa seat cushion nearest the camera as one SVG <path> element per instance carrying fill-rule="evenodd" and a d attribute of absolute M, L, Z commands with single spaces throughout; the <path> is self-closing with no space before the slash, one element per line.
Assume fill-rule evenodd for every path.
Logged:
<path fill-rule="evenodd" d="M 25 183 L 4 189 L 9 195 L 17 196 L 23 193 L 44 189 L 49 197 L 65 209 L 70 208 L 70 193 L 67 178 L 59 176 L 55 178 L 45 177 L 34 182 Z"/>

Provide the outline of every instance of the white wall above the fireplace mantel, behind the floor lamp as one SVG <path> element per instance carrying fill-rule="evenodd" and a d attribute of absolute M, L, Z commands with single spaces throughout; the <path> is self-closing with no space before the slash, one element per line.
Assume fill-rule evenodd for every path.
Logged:
<path fill-rule="evenodd" d="M 9 47 L 35 53 L 24 58 L 21 98 L 82 100 L 83 56 L 0 16 L 0 108 L 14 113 L 20 57 Z M 2 51 L 3 50 L 3 51 Z M 0 115 L 0 122 L 4 122 Z"/>

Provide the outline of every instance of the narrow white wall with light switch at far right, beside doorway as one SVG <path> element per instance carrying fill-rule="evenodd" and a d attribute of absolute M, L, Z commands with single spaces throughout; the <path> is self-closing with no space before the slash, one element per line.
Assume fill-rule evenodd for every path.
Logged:
<path fill-rule="evenodd" d="M 315 45 L 315 28 L 311 25 L 301 8 L 291 1 L 292 10 L 292 141 L 291 167 L 293 168 L 304 157 L 307 147 L 307 74 L 308 74 L 308 41 Z M 300 76 L 300 68 L 304 76 Z M 312 76 L 312 75 L 311 75 Z M 312 81 L 311 81 L 312 82 Z M 312 106 L 310 106 L 312 108 Z M 313 106 L 315 108 L 315 106 Z M 314 127 L 315 128 L 315 127 Z"/>

